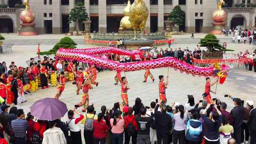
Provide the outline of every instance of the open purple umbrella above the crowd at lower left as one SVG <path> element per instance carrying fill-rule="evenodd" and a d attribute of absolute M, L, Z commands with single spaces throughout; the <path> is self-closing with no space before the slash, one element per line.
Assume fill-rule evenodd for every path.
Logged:
<path fill-rule="evenodd" d="M 45 98 L 37 100 L 31 107 L 31 115 L 40 120 L 55 120 L 61 118 L 68 111 L 64 102 L 53 99 Z"/>

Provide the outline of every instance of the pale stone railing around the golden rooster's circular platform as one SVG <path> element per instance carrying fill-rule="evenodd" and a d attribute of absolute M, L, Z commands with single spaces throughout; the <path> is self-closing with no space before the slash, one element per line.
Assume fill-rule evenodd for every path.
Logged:
<path fill-rule="evenodd" d="M 91 38 L 92 39 L 98 39 L 98 40 L 117 40 L 117 39 L 131 39 L 133 38 L 133 33 L 108 33 L 108 34 L 101 34 L 101 33 L 92 33 Z M 140 34 L 137 34 L 137 38 L 140 38 Z M 148 33 L 144 35 L 144 38 L 146 39 L 165 39 L 165 32 L 160 33 Z"/>

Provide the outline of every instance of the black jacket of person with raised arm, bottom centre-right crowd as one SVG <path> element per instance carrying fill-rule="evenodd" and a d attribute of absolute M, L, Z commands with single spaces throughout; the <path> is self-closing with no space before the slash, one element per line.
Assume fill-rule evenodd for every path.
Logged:
<path fill-rule="evenodd" d="M 158 111 L 159 105 L 155 107 L 155 125 L 156 131 L 160 135 L 169 135 L 170 130 L 173 127 L 172 117 L 166 112 Z"/>

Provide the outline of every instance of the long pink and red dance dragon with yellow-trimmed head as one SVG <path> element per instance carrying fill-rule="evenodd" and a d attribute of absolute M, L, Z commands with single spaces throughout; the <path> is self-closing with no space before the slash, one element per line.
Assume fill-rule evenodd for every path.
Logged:
<path fill-rule="evenodd" d="M 193 76 L 199 75 L 205 77 L 219 77 L 220 83 L 224 83 L 230 69 L 229 66 L 220 63 L 215 63 L 213 66 L 209 67 L 198 67 L 182 62 L 174 57 L 164 57 L 150 61 L 119 63 L 97 56 L 97 54 L 104 53 L 135 56 L 136 54 L 141 54 L 142 52 L 137 50 L 127 51 L 115 47 L 95 47 L 86 49 L 60 48 L 56 53 L 56 57 L 62 60 L 75 60 L 84 63 L 94 63 L 98 66 L 117 72 L 131 72 L 145 69 L 172 67 L 174 70 L 180 70 L 181 72 L 186 72 L 186 74 L 192 74 Z"/>

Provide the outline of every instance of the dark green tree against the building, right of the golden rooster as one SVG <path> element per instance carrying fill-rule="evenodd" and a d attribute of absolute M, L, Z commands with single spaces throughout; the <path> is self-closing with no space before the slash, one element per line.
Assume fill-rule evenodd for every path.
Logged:
<path fill-rule="evenodd" d="M 185 11 L 179 5 L 175 6 L 173 11 L 169 13 L 168 20 L 172 20 L 178 26 L 183 26 L 185 22 Z"/>

